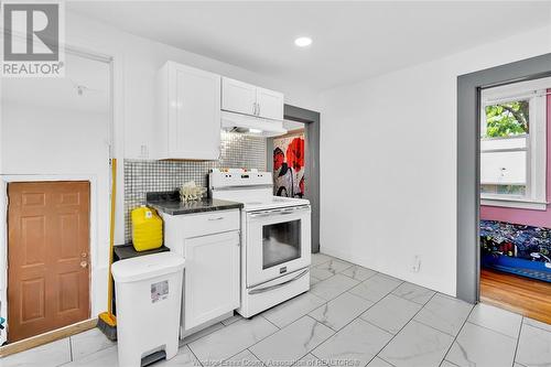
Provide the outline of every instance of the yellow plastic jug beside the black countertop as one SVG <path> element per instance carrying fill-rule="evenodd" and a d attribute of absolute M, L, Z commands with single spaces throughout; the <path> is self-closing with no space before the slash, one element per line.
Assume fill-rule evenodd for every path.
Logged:
<path fill-rule="evenodd" d="M 137 251 L 152 250 L 163 245 L 163 219 L 144 205 L 131 213 L 132 242 Z"/>

